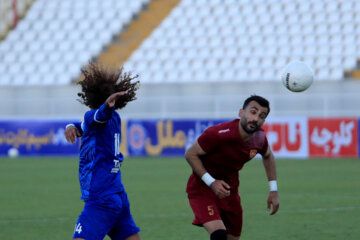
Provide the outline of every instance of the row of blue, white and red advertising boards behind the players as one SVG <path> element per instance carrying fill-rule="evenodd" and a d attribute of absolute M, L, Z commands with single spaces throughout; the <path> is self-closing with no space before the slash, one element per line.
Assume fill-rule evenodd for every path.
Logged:
<path fill-rule="evenodd" d="M 127 120 L 121 151 L 127 156 L 183 156 L 209 126 L 230 119 Z M 66 142 L 65 126 L 77 119 L 0 121 L 0 155 L 76 156 L 80 142 Z M 358 118 L 269 118 L 263 126 L 278 158 L 360 157 Z"/>

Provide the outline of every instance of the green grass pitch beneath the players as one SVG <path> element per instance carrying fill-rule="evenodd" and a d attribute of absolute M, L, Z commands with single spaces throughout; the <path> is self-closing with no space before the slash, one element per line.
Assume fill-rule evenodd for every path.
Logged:
<path fill-rule="evenodd" d="M 0 158 L 0 239 L 71 239 L 83 203 L 77 158 Z M 266 211 L 260 160 L 240 172 L 242 240 L 360 239 L 360 159 L 277 160 L 280 210 Z M 209 239 L 191 225 L 183 158 L 127 158 L 122 166 L 144 240 Z M 106 238 L 109 239 L 109 238 Z"/>

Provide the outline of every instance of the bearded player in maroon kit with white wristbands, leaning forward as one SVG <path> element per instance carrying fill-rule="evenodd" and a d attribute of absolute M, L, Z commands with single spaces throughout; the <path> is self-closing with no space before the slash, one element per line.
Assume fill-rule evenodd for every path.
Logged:
<path fill-rule="evenodd" d="M 240 119 L 209 127 L 185 153 L 193 170 L 186 188 L 193 224 L 203 226 L 211 240 L 240 238 L 239 170 L 258 153 L 270 186 L 267 208 L 272 207 L 271 215 L 279 209 L 275 159 L 261 129 L 269 112 L 265 98 L 250 96 L 239 111 Z"/>

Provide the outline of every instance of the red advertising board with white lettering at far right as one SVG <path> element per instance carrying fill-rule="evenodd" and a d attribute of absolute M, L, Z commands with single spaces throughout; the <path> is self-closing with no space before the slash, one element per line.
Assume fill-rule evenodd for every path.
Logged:
<path fill-rule="evenodd" d="M 309 118 L 310 157 L 357 157 L 356 118 Z"/>

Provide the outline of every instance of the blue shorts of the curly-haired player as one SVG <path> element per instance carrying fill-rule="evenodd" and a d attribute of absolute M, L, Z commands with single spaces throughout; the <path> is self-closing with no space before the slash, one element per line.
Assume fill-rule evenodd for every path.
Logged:
<path fill-rule="evenodd" d="M 102 240 L 109 235 L 112 240 L 123 240 L 140 231 L 131 216 L 126 193 L 114 194 L 109 198 L 116 202 L 116 208 L 95 202 L 85 203 L 73 238 Z"/>

